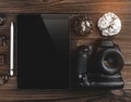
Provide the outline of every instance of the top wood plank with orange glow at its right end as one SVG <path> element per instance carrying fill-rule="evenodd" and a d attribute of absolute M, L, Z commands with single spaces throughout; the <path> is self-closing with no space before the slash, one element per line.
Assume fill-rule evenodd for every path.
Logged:
<path fill-rule="evenodd" d="M 4 13 L 131 13 L 130 0 L 0 0 Z"/>

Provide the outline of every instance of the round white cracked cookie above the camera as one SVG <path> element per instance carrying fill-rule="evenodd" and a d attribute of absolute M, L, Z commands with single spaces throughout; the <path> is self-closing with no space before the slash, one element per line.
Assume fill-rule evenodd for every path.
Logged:
<path fill-rule="evenodd" d="M 121 29 L 121 21 L 114 13 L 105 13 L 97 23 L 103 36 L 117 35 Z"/>

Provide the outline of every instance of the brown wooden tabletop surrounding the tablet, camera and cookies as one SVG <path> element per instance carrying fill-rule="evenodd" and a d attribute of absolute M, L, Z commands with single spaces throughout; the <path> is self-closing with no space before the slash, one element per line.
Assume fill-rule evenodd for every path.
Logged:
<path fill-rule="evenodd" d="M 116 13 L 122 22 L 122 29 L 120 34 L 114 38 L 114 41 L 120 46 L 126 62 L 122 69 L 122 78 L 126 84 L 124 90 L 19 90 L 16 89 L 16 78 L 11 77 L 8 84 L 0 86 L 0 102 L 34 102 L 33 100 L 37 100 L 37 102 L 131 102 L 130 0 L 0 0 L 0 13 L 7 15 L 5 25 L 0 26 L 0 35 L 9 36 L 10 22 L 14 21 L 15 15 L 19 13 L 87 13 L 95 24 L 95 29 L 86 37 L 79 37 L 71 33 L 72 44 L 78 47 L 102 38 L 96 23 L 106 12 Z M 2 49 L 0 48 L 0 50 Z"/>

